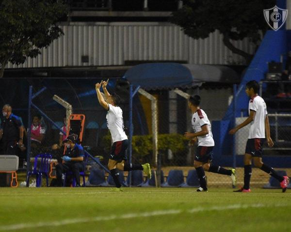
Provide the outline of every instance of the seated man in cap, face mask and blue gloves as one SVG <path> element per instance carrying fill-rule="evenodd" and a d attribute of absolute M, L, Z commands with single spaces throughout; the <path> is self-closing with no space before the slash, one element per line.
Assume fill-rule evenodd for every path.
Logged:
<path fill-rule="evenodd" d="M 62 159 L 64 163 L 56 165 L 57 186 L 63 186 L 62 174 L 72 172 L 73 177 L 76 178 L 76 187 L 80 187 L 80 172 L 85 170 L 84 149 L 81 145 L 77 144 L 77 135 L 71 134 L 65 139 L 66 151 Z"/>

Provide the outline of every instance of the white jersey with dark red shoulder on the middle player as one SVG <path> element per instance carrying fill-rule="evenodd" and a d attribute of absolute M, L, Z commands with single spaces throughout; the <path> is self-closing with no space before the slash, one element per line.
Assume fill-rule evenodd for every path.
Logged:
<path fill-rule="evenodd" d="M 201 127 L 207 125 L 209 133 L 204 136 L 198 136 L 198 146 L 214 146 L 213 135 L 210 121 L 204 110 L 198 109 L 192 116 L 192 128 L 194 132 L 202 131 Z"/>

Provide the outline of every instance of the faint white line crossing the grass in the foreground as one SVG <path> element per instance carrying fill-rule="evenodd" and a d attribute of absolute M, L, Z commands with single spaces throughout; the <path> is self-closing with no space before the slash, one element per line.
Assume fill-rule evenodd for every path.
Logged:
<path fill-rule="evenodd" d="M 225 206 L 211 206 L 211 207 L 197 207 L 189 210 L 180 210 L 180 209 L 168 209 L 168 210 L 159 210 L 159 211 L 150 211 L 145 213 L 131 213 L 123 215 L 109 215 L 109 216 L 98 216 L 98 217 L 87 217 L 87 218 L 71 218 L 57 221 L 40 221 L 36 223 L 20 223 L 20 224 L 11 224 L 0 226 L 0 231 L 12 231 L 12 230 L 22 230 L 29 228 L 40 228 L 40 227 L 51 227 L 51 226 L 64 226 L 69 224 L 76 223 L 85 223 L 85 222 L 97 222 L 97 221 L 108 221 L 114 219 L 131 219 L 137 217 L 155 217 L 155 216 L 164 216 L 164 215 L 177 215 L 181 213 L 197 213 L 204 211 L 224 211 L 228 209 L 246 209 L 246 208 L 263 208 L 263 207 L 286 207 L 286 204 L 232 204 Z"/>

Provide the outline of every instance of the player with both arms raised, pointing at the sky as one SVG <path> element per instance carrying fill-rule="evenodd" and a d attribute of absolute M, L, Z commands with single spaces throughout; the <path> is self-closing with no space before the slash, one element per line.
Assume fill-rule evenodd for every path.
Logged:
<path fill-rule="evenodd" d="M 148 163 L 140 165 L 126 162 L 127 161 L 126 149 L 128 147 L 128 137 L 124 132 L 122 110 L 118 106 L 120 103 L 120 97 L 116 94 L 113 95 L 109 94 L 109 92 L 106 89 L 107 83 L 108 80 L 107 82 L 101 81 L 100 83 L 96 84 L 95 88 L 97 92 L 98 102 L 104 109 L 108 111 L 106 115 L 107 127 L 111 133 L 113 140 L 110 158 L 108 161 L 108 168 L 110 170 L 110 173 L 113 177 L 116 186 L 115 190 L 123 191 L 121 188 L 121 183 L 118 178 L 119 173 L 117 172 L 117 169 L 121 171 L 143 170 L 149 179 L 151 178 L 151 171 L 150 165 Z M 103 87 L 106 101 L 104 100 L 100 92 L 101 85 Z"/>

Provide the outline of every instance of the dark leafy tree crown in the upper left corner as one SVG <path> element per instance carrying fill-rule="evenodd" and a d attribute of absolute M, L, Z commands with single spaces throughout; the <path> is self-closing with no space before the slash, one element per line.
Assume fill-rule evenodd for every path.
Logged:
<path fill-rule="evenodd" d="M 0 0 L 0 77 L 8 61 L 22 64 L 64 34 L 56 24 L 67 10 L 61 0 Z"/>

